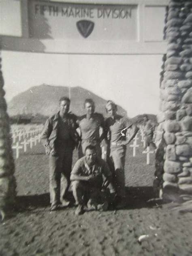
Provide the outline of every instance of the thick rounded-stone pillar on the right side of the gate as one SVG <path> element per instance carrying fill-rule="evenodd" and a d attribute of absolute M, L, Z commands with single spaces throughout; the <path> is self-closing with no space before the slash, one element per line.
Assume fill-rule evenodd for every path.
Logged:
<path fill-rule="evenodd" d="M 168 45 L 157 115 L 164 157 L 156 167 L 163 165 L 163 195 L 173 199 L 192 193 L 192 1 L 169 2 L 165 36 Z M 160 159 L 158 154 L 156 158 Z"/>

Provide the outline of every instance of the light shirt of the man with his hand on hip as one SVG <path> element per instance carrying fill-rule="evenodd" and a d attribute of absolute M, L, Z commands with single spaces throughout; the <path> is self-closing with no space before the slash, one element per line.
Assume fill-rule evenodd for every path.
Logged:
<path fill-rule="evenodd" d="M 132 126 L 133 122 L 128 118 L 117 115 L 114 119 L 109 117 L 105 121 L 105 130 L 109 132 L 111 142 L 122 142 L 126 140 L 127 129 Z"/>

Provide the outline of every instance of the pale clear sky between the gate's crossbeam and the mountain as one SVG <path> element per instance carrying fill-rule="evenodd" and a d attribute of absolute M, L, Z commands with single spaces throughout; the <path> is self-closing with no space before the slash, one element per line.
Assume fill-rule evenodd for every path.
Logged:
<path fill-rule="evenodd" d="M 6 100 L 32 86 L 81 86 L 128 116 L 158 113 L 162 55 L 69 55 L 2 51 Z M 72 102 L 73 104 L 73 102 Z"/>

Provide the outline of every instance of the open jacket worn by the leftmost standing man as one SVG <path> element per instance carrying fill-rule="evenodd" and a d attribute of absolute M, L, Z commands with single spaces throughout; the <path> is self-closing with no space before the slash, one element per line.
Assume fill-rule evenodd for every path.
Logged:
<path fill-rule="evenodd" d="M 49 155 L 53 149 L 57 153 L 56 141 L 58 139 L 58 123 L 59 123 L 59 112 L 49 117 L 43 128 L 41 135 L 41 141 L 45 146 L 46 155 Z M 73 150 L 75 145 L 78 144 L 78 136 L 76 132 L 77 128 L 77 117 L 73 114 L 67 114 L 68 126 L 70 127 L 70 148 Z"/>

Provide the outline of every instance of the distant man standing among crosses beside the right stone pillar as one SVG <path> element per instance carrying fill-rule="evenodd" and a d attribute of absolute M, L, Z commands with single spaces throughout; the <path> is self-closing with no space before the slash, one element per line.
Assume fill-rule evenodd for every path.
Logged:
<path fill-rule="evenodd" d="M 145 148 L 143 153 L 145 153 L 145 149 L 147 147 L 150 147 L 150 145 L 156 149 L 156 145 L 153 142 L 153 137 L 154 137 L 154 130 L 155 130 L 155 124 L 149 119 L 148 115 L 145 115 L 143 117 L 144 120 L 144 135 L 145 135 Z"/>

